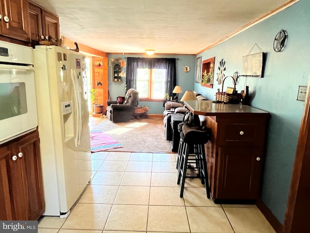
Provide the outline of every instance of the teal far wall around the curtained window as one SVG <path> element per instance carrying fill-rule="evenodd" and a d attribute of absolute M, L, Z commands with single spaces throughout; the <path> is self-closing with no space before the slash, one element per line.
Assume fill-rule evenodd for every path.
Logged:
<path fill-rule="evenodd" d="M 124 54 L 125 57 L 149 57 L 144 54 Z M 109 54 L 110 59 L 116 59 L 122 57 L 121 54 Z M 152 57 L 164 57 L 164 58 L 178 58 L 176 61 L 176 76 L 177 85 L 181 86 L 183 93 L 179 94 L 179 99 L 182 98 L 186 90 L 194 90 L 195 83 L 195 66 L 196 56 L 195 55 L 170 55 L 170 54 L 154 54 Z M 189 72 L 185 73 L 183 67 L 189 66 Z M 111 100 L 116 100 L 118 96 L 125 95 L 125 82 L 114 82 L 112 81 L 112 67 L 109 67 L 109 93 Z M 163 97 L 164 98 L 164 97 Z M 163 102 L 162 100 L 157 102 L 140 101 L 141 106 L 149 107 L 149 114 L 162 114 L 163 113 Z"/>

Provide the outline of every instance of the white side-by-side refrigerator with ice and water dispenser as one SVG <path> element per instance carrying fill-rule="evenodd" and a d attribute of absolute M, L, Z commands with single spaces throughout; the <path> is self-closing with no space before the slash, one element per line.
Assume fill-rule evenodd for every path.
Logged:
<path fill-rule="evenodd" d="M 92 175 L 85 57 L 57 46 L 32 51 L 44 215 L 66 217 Z"/>

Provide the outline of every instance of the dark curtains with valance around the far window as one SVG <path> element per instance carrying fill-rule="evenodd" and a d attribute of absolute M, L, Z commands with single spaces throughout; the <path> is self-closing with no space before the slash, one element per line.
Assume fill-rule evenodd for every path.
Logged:
<path fill-rule="evenodd" d="M 126 87 L 136 89 L 137 86 L 137 69 L 167 69 L 165 93 L 172 96 L 172 90 L 176 85 L 176 68 L 175 58 L 143 58 L 127 57 L 126 67 Z"/>

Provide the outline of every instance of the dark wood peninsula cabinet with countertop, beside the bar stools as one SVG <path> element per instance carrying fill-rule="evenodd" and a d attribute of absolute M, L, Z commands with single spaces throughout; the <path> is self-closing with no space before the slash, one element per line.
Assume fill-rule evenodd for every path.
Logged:
<path fill-rule="evenodd" d="M 250 203 L 260 195 L 269 113 L 242 104 L 186 101 L 212 135 L 205 151 L 215 203 Z"/>

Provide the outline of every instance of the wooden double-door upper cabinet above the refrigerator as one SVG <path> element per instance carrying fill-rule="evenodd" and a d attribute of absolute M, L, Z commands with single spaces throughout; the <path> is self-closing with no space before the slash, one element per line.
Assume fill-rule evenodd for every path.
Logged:
<path fill-rule="evenodd" d="M 29 1 L 29 18 L 31 27 L 32 46 L 38 45 L 40 40 L 52 37 L 60 39 L 59 18 L 43 7 Z"/>

